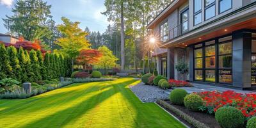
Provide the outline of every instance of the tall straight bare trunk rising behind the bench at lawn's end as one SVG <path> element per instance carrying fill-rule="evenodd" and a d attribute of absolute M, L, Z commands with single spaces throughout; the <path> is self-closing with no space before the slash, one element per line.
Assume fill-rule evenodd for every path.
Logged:
<path fill-rule="evenodd" d="M 124 70 L 124 1 L 121 1 L 121 70 Z"/>

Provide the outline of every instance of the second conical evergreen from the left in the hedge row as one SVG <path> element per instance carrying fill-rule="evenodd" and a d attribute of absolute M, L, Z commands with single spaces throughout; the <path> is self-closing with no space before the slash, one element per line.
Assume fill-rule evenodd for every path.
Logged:
<path fill-rule="evenodd" d="M 17 49 L 13 46 L 10 46 L 7 48 L 7 52 L 8 52 L 8 56 L 9 56 L 9 60 L 10 60 L 10 65 L 12 67 L 12 72 L 10 72 L 10 77 L 20 81 L 20 75 L 22 72 L 21 72 L 21 68 L 19 65 Z"/>

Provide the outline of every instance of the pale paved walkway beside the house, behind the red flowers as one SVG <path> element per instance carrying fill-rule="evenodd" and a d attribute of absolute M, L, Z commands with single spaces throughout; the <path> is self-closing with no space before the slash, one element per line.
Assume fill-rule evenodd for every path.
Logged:
<path fill-rule="evenodd" d="M 218 91 L 218 92 L 225 92 L 227 90 L 233 90 L 234 92 L 238 93 L 256 93 L 252 92 L 250 90 L 239 90 L 236 88 L 225 88 L 225 87 L 220 87 L 220 86 L 212 86 L 209 84 L 199 84 L 199 83 L 191 83 L 193 84 L 194 87 L 184 87 L 181 89 L 186 90 L 188 93 L 193 93 L 193 92 L 205 92 L 205 91 Z M 172 91 L 172 90 L 169 90 Z"/>

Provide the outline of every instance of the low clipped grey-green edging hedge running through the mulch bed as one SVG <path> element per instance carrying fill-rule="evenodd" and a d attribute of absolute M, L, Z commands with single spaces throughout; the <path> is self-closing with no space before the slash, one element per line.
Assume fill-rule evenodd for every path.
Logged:
<path fill-rule="evenodd" d="M 173 113 L 175 113 L 176 115 L 180 116 L 181 118 L 183 118 L 184 120 L 186 120 L 186 122 L 188 122 L 189 124 L 198 127 L 198 128 L 209 128 L 207 127 L 207 125 L 205 125 L 202 122 L 199 122 L 198 120 L 196 120 L 195 118 L 187 115 L 186 113 L 183 113 L 182 111 L 180 111 L 179 109 L 173 107 L 172 105 L 168 104 L 167 102 L 165 102 L 164 100 L 157 100 L 156 102 L 157 104 L 160 104 L 162 106 L 164 106 L 164 108 L 172 111 Z M 161 107 L 162 108 L 162 107 Z M 164 109 L 163 108 L 163 109 Z M 165 109 L 164 109 L 165 110 Z M 175 117 L 176 118 L 176 117 Z"/>

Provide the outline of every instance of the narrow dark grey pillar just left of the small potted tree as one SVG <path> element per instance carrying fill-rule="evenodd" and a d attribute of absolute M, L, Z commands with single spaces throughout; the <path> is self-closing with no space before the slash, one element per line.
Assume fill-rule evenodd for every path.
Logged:
<path fill-rule="evenodd" d="M 167 49 L 167 79 L 174 79 L 174 48 Z"/>

